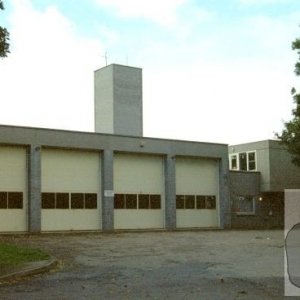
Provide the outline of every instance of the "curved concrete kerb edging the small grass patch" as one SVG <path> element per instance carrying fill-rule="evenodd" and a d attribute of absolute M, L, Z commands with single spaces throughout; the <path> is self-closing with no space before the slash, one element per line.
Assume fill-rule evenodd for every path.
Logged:
<path fill-rule="evenodd" d="M 0 276 L 0 283 L 46 273 L 51 269 L 54 269 L 57 265 L 58 260 L 54 257 L 51 257 L 48 260 L 33 262 L 16 272 Z"/>

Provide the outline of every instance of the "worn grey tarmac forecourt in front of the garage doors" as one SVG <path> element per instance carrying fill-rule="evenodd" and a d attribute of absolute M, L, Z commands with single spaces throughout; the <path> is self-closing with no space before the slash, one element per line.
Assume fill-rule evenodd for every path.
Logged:
<path fill-rule="evenodd" d="M 280 230 L 1 239 L 40 248 L 58 263 L 47 273 L 0 280 L 0 299 L 284 299 Z"/>

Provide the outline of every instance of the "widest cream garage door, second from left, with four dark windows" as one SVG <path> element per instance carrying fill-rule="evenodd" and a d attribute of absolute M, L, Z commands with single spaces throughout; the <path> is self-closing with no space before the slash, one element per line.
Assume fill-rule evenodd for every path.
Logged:
<path fill-rule="evenodd" d="M 101 229 L 100 154 L 42 149 L 42 230 Z"/>

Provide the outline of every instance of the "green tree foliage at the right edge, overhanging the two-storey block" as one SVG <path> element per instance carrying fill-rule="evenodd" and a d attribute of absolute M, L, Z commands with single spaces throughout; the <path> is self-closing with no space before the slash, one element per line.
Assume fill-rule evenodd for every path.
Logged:
<path fill-rule="evenodd" d="M 292 42 L 292 49 L 298 54 L 295 74 L 300 76 L 300 38 Z M 297 93 L 295 88 L 292 88 L 291 93 L 296 107 L 292 110 L 292 119 L 284 123 L 284 129 L 277 137 L 287 146 L 292 155 L 292 162 L 300 167 L 300 93 Z"/>

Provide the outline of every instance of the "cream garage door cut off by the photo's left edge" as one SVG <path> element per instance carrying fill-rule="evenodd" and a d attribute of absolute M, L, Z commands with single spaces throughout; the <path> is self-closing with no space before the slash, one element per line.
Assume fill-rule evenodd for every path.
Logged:
<path fill-rule="evenodd" d="M 25 148 L 0 147 L 0 231 L 27 231 Z"/>

